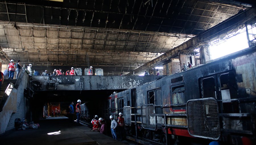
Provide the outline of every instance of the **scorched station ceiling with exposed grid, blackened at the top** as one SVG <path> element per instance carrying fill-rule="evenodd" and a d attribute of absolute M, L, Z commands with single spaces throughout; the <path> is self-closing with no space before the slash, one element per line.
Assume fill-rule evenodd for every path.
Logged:
<path fill-rule="evenodd" d="M 130 72 L 254 3 L 0 1 L 1 59 Z"/>

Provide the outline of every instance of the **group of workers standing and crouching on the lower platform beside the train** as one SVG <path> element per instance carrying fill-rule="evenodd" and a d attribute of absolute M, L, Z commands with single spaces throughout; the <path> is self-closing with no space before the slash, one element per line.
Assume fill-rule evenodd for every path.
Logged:
<path fill-rule="evenodd" d="M 77 115 L 77 125 L 80 125 L 80 115 L 81 115 L 81 100 L 77 100 L 76 105 L 76 115 Z M 72 113 L 73 110 L 73 102 L 69 105 L 70 113 Z M 72 114 L 73 115 L 73 114 Z M 123 113 L 119 113 L 119 117 L 117 117 L 117 121 L 114 119 L 112 115 L 109 117 L 111 119 L 111 133 L 115 140 L 117 140 L 117 134 L 116 129 L 118 128 L 120 139 L 123 140 L 123 137 L 125 136 L 125 129 L 124 129 L 124 118 Z M 106 134 L 106 121 L 103 118 L 99 118 L 98 115 L 95 115 L 94 118 L 91 121 L 92 123 L 92 129 L 91 131 L 99 131 L 102 134 Z"/>

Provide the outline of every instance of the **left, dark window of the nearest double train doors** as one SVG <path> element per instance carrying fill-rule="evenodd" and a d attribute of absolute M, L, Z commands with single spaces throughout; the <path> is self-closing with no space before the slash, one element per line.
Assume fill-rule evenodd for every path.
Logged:
<path fill-rule="evenodd" d="M 215 81 L 214 77 L 204 78 L 203 85 L 203 98 L 216 98 Z"/>

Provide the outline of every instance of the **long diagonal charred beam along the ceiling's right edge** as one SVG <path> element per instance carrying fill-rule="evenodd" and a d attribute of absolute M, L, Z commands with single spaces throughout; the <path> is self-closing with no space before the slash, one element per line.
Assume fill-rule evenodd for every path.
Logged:
<path fill-rule="evenodd" d="M 238 13 L 237 15 L 230 17 L 229 19 L 204 31 L 202 34 L 194 38 L 191 38 L 187 42 L 175 47 L 174 49 L 159 56 L 158 58 L 149 61 L 148 63 L 134 70 L 134 72 L 130 72 L 127 75 L 132 75 L 133 73 L 137 74 L 139 72 L 146 70 L 147 68 L 162 64 L 165 61 L 167 61 L 167 59 L 177 56 L 180 51 L 194 49 L 200 43 L 207 43 L 209 40 L 214 39 L 216 37 L 225 36 L 226 33 L 228 32 L 234 32 L 236 28 L 244 26 L 245 22 L 247 22 L 247 24 L 256 22 L 256 8 L 246 9 L 245 11 L 242 11 L 241 13 Z"/>

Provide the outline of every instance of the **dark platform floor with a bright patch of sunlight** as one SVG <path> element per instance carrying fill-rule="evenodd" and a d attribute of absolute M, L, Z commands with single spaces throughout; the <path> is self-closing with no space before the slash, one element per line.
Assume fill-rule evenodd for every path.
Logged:
<path fill-rule="evenodd" d="M 38 129 L 11 130 L 0 136 L 3 145 L 127 145 L 129 142 L 114 140 L 89 127 L 69 123 L 65 116 L 38 121 Z M 126 143 L 125 143 L 126 142 Z M 132 144 L 130 144 L 132 145 Z"/>

